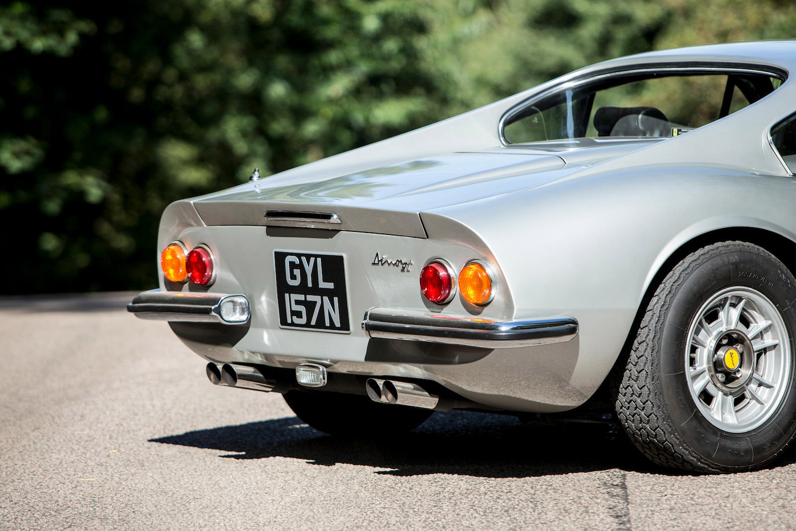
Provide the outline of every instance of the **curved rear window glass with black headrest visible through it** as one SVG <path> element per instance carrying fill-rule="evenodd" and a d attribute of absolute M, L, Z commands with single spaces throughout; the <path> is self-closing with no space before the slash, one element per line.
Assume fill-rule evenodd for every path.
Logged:
<path fill-rule="evenodd" d="M 579 138 L 667 138 L 724 118 L 781 84 L 754 73 L 645 72 L 557 92 L 505 120 L 508 143 Z"/>

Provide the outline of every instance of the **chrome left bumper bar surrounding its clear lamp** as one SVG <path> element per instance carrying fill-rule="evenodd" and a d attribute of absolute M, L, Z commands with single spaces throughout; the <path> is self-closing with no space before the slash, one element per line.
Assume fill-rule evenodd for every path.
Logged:
<path fill-rule="evenodd" d="M 248 323 L 248 318 L 243 322 L 228 322 L 221 318 L 221 303 L 231 297 L 243 297 L 248 303 L 246 296 L 240 294 L 219 295 L 154 289 L 135 295 L 127 305 L 127 311 L 138 318 L 154 321 L 217 322 L 232 326 Z"/>

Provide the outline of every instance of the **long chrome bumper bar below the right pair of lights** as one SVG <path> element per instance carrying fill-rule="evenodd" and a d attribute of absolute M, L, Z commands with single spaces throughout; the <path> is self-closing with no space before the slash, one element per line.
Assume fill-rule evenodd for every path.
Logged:
<path fill-rule="evenodd" d="M 372 308 L 362 330 L 370 338 L 403 339 L 505 349 L 567 342 L 578 335 L 572 318 L 491 321 L 462 315 Z"/>

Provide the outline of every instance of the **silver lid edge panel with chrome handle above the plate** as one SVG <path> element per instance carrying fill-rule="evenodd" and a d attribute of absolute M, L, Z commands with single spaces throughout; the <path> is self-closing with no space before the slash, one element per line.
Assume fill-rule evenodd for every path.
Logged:
<path fill-rule="evenodd" d="M 195 201 L 205 225 L 327 228 L 427 238 L 419 213 L 274 201 Z"/>

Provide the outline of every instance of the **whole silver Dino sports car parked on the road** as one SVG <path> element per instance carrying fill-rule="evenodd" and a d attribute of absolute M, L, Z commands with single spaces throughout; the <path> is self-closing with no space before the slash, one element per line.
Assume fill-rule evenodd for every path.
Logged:
<path fill-rule="evenodd" d="M 615 412 L 665 467 L 796 432 L 796 41 L 594 64 L 171 204 L 168 321 L 217 385 L 333 434 Z"/>

